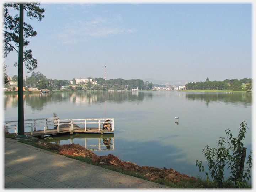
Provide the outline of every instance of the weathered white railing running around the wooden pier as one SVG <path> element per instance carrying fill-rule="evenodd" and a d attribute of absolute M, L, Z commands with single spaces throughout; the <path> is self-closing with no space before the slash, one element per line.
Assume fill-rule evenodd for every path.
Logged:
<path fill-rule="evenodd" d="M 114 119 L 64 119 L 60 120 L 56 113 L 53 114 L 52 118 L 41 118 L 41 119 L 26 119 L 24 120 L 24 128 L 30 128 L 31 135 L 33 131 L 36 131 L 38 127 L 43 127 L 44 133 L 46 134 L 47 130 L 51 126 L 57 127 L 57 132 L 60 132 L 60 126 L 65 124 L 70 124 L 70 131 L 73 131 L 73 124 L 83 124 L 84 130 L 87 130 L 87 124 L 97 124 L 98 131 L 101 131 L 101 124 L 105 123 L 106 120 L 111 122 L 106 122 L 112 124 L 112 131 L 114 131 Z M 6 132 L 9 132 L 9 129 L 15 129 L 15 134 L 18 134 L 18 121 L 5 121 L 4 128 Z M 89 128 L 89 127 L 88 127 Z M 83 127 L 81 127 L 83 129 Z"/>

